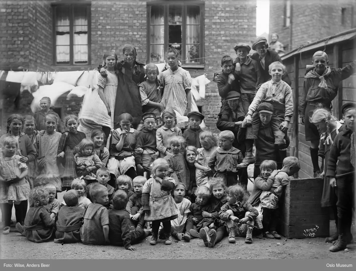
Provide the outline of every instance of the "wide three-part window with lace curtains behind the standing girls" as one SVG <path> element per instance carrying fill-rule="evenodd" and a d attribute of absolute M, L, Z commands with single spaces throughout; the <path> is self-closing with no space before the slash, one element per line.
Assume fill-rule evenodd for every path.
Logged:
<path fill-rule="evenodd" d="M 147 63 L 162 63 L 169 48 L 182 54 L 183 65 L 204 63 L 204 2 L 147 3 Z"/>

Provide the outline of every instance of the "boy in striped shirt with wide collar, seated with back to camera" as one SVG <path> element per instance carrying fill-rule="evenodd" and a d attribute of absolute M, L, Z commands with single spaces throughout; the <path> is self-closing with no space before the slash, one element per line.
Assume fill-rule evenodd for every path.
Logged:
<path fill-rule="evenodd" d="M 94 184 L 89 193 L 93 203 L 85 209 L 80 239 L 86 245 L 108 245 L 110 244 L 109 213 L 105 208 L 109 203 L 108 189 L 101 184 Z"/>

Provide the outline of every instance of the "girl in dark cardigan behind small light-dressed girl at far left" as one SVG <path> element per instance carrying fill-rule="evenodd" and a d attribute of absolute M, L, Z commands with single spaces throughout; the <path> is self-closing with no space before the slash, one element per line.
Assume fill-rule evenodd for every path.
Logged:
<path fill-rule="evenodd" d="M 32 147 L 31 139 L 27 134 L 22 134 L 23 129 L 23 119 L 19 114 L 12 114 L 7 119 L 6 134 L 0 138 L 0 148 L 3 147 L 3 142 L 5 137 L 15 138 L 17 145 L 19 146 L 16 150 L 16 154 L 20 155 L 20 162 L 26 163 L 27 168 L 29 162 L 35 160 L 35 151 Z"/>

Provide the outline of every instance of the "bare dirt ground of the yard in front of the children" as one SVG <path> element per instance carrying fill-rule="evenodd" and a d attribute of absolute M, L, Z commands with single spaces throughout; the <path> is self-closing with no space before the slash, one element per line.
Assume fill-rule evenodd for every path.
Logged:
<path fill-rule="evenodd" d="M 250 187 L 249 187 L 250 188 Z M 58 194 L 62 201 L 63 193 Z M 14 210 L 15 211 L 15 210 Z M 13 220 L 15 212 L 13 211 Z M 335 232 L 335 223 L 330 221 L 330 233 Z M 356 238 L 355 230 L 354 239 Z M 200 239 L 189 243 L 173 238 L 172 245 L 149 244 L 148 237 L 140 244 L 133 245 L 137 251 L 115 246 L 88 246 L 82 243 L 35 244 L 22 237 L 14 227 L 9 235 L 0 234 L 1 259 L 356 259 L 356 243 L 348 245 L 348 251 L 332 253 L 330 243 L 324 238 L 270 240 L 253 238 L 252 244 L 245 244 L 245 238 L 236 238 L 230 244 L 227 237 L 214 248 L 207 248 Z"/>

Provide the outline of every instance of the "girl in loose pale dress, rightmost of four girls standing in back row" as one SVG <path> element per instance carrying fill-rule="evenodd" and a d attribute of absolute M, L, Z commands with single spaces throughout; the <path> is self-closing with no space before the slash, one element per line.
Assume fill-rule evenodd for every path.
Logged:
<path fill-rule="evenodd" d="M 169 69 L 162 71 L 159 79 L 164 86 L 162 99 L 164 107 L 176 111 L 180 116 L 186 116 L 192 105 L 192 95 L 190 94 L 192 78 L 188 71 L 179 67 L 179 58 L 178 50 L 168 50 Z"/>

